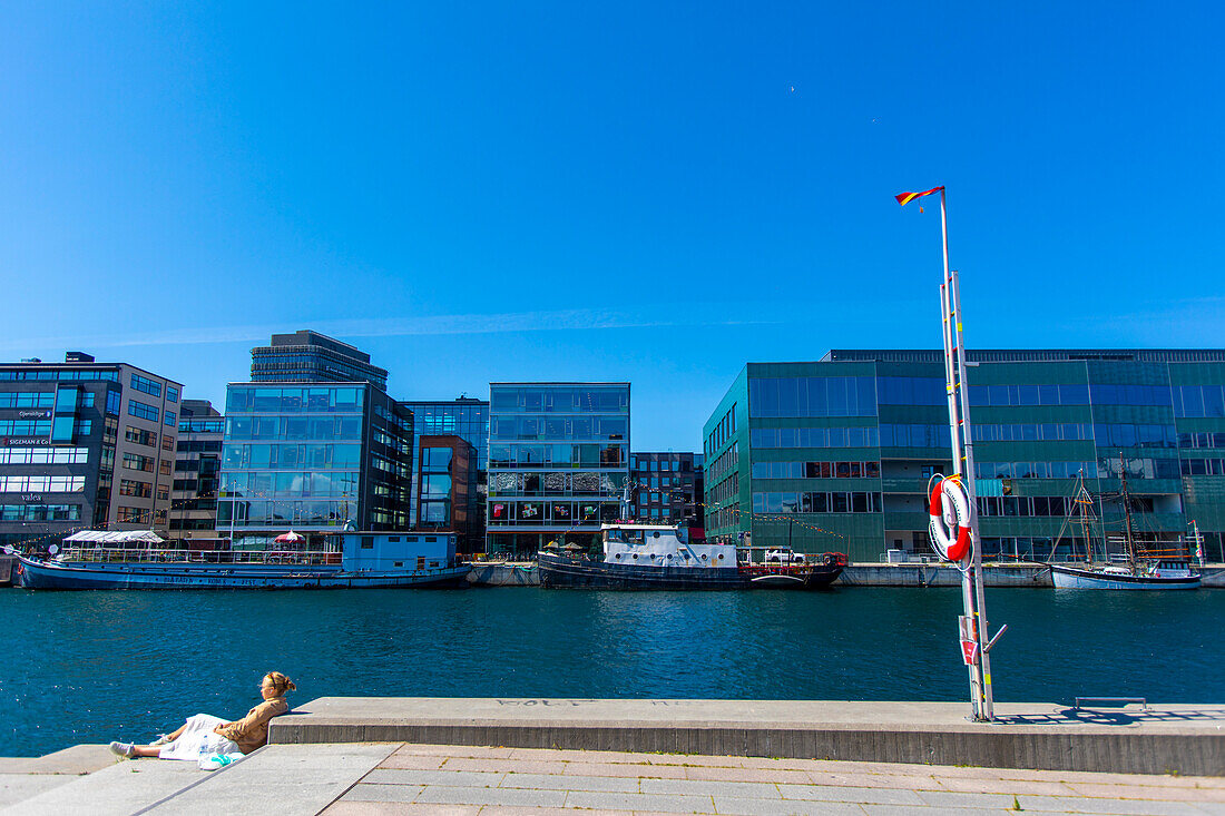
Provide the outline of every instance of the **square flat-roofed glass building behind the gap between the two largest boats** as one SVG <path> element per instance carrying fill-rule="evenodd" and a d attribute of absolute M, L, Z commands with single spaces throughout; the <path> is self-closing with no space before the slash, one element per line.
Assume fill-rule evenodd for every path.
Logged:
<path fill-rule="evenodd" d="M 630 478 L 630 383 L 489 386 L 488 549 L 594 545 Z"/>

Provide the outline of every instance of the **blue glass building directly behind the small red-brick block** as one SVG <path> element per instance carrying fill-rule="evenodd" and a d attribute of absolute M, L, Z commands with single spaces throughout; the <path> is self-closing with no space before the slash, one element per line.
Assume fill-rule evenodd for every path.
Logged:
<path fill-rule="evenodd" d="M 421 436 L 450 435 L 462 437 L 473 446 L 477 459 L 472 463 L 477 485 L 468 495 L 468 542 L 459 542 L 464 553 L 481 551 L 485 535 L 485 497 L 489 457 L 489 402 L 474 397 L 456 399 L 410 399 L 399 403 L 413 412 L 413 450 L 418 450 Z M 420 467 L 420 457 L 417 459 Z M 413 495 L 409 499 L 409 517 L 417 518 L 417 496 L 421 474 L 413 474 Z M 478 540 L 480 542 L 478 544 Z M 473 546 L 475 549 L 463 549 Z"/>

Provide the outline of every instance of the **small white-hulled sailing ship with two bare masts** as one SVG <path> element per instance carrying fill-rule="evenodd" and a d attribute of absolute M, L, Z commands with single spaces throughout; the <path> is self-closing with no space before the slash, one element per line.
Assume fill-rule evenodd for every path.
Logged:
<path fill-rule="evenodd" d="M 1123 561 L 1111 561 L 1109 546 L 1102 534 L 1101 560 L 1094 557 L 1093 527 L 1098 518 L 1093 512 L 1093 496 L 1084 486 L 1084 472 L 1077 477 L 1073 511 L 1065 519 L 1060 531 L 1067 529 L 1073 516 L 1080 526 L 1085 545 L 1084 564 L 1051 564 L 1051 581 L 1056 589 L 1196 589 L 1199 587 L 1199 572 L 1191 567 L 1191 561 L 1182 557 L 1152 557 L 1156 548 L 1142 548 L 1132 522 L 1131 496 L 1127 490 L 1127 468 L 1120 455 L 1121 489 L 1118 497 L 1123 507 Z M 1197 531 L 1198 534 L 1198 531 Z M 1056 549 L 1058 538 L 1056 539 Z M 1073 553 L 1073 556 L 1076 554 Z M 1054 556 L 1054 553 L 1052 553 Z"/>

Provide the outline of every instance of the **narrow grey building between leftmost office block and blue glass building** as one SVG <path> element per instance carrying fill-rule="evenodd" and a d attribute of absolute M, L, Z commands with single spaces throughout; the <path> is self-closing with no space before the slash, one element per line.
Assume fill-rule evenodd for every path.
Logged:
<path fill-rule="evenodd" d="M 189 545 L 216 548 L 217 490 L 225 418 L 207 399 L 184 399 L 179 410 L 174 483 L 170 488 L 170 537 Z"/>

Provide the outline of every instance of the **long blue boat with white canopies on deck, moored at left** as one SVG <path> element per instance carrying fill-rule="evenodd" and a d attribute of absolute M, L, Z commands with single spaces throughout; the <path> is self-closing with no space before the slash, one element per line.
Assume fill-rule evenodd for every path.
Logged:
<path fill-rule="evenodd" d="M 110 546 L 66 540 L 42 555 L 17 554 L 16 572 L 29 589 L 463 587 L 468 572 L 447 533 L 343 533 L 325 550 L 184 550 L 153 539 L 136 548 L 138 538 Z"/>

